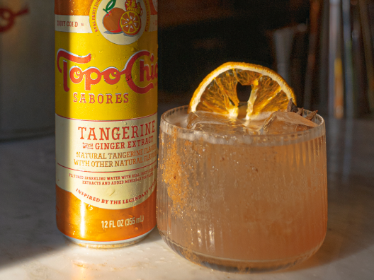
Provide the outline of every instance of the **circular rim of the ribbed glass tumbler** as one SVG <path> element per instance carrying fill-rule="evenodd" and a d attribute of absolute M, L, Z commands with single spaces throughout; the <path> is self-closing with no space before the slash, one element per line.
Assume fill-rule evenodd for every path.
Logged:
<path fill-rule="evenodd" d="M 261 142 L 261 146 L 265 144 L 266 146 L 278 146 L 275 142 L 280 142 L 280 144 L 293 144 L 293 142 L 301 142 L 307 141 L 325 134 L 325 122 L 323 117 L 320 115 L 316 115 L 315 117 L 319 120 L 319 122 L 314 122 L 317 127 L 313 127 L 311 129 L 307 129 L 301 132 L 293 132 L 293 133 L 285 133 L 285 134 L 220 134 L 215 132 L 202 132 L 198 130 L 188 129 L 187 127 L 179 127 L 178 125 L 172 123 L 167 117 L 171 114 L 176 114 L 178 112 L 186 111 L 187 113 L 188 105 L 183 105 L 179 107 L 172 108 L 164 112 L 161 116 L 160 121 L 160 132 L 166 132 L 167 134 L 171 134 L 171 130 L 174 132 L 178 132 L 178 134 L 185 134 L 181 136 L 181 138 L 191 138 L 192 141 L 196 141 L 196 137 L 203 138 L 206 141 L 209 139 L 216 139 L 215 142 L 217 144 L 230 144 L 225 143 L 225 141 L 232 140 L 235 144 L 238 142 L 243 144 L 259 144 Z M 311 112 L 309 110 L 305 110 L 306 112 Z M 191 134 L 193 136 L 191 136 Z M 192 139 L 193 138 L 193 139 Z M 220 141 L 221 140 L 221 141 Z"/>

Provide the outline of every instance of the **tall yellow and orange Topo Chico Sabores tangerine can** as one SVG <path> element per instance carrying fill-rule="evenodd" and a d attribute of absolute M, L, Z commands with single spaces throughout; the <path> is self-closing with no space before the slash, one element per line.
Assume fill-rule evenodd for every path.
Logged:
<path fill-rule="evenodd" d="M 57 228 L 121 247 L 156 225 L 157 0 L 55 0 Z"/>

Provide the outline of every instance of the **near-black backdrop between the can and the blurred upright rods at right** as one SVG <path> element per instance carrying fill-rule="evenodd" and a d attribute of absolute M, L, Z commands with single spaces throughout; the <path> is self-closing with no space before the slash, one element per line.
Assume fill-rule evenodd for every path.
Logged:
<path fill-rule="evenodd" d="M 159 1 L 160 101 L 188 102 L 200 81 L 225 62 L 249 62 L 276 70 L 273 31 L 307 25 L 309 13 L 310 2 L 302 0 Z M 293 57 L 302 57 L 301 79 L 291 85 L 299 103 L 307 46 L 305 32 L 293 46 L 297 50 Z"/>

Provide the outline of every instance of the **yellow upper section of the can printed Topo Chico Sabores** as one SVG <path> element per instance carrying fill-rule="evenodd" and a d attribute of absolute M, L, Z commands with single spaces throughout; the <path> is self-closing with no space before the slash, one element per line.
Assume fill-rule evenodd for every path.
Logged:
<path fill-rule="evenodd" d="M 97 0 L 90 16 L 57 16 L 56 29 L 66 30 L 56 32 L 57 115 L 112 120 L 157 112 L 157 19 L 151 21 L 148 1 L 137 1 L 135 11 L 132 6 L 125 11 L 128 2 L 135 3 L 118 0 L 107 13 L 108 1 Z M 114 9 L 117 13 L 111 13 Z M 104 26 L 113 15 L 123 27 L 118 33 Z M 128 17 L 137 18 L 134 35 L 123 31 L 130 33 L 125 29 Z"/>

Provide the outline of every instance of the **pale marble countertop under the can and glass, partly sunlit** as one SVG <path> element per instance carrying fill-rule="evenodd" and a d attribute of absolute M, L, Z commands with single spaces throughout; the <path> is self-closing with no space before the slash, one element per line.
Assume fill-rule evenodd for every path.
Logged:
<path fill-rule="evenodd" d="M 119 249 L 70 243 L 55 225 L 54 136 L 2 142 L 0 279 L 374 279 L 373 137 L 373 120 L 327 120 L 326 239 L 302 264 L 251 275 L 188 262 L 157 229 Z"/>

